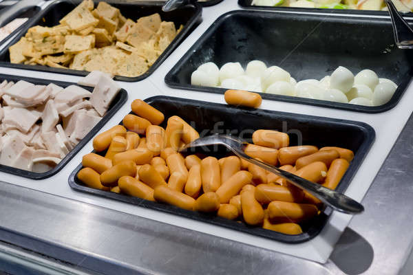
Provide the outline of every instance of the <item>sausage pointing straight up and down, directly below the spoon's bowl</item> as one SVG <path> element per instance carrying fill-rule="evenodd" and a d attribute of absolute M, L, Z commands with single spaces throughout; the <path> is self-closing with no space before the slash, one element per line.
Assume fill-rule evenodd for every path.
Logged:
<path fill-rule="evenodd" d="M 201 179 L 204 192 L 215 192 L 221 185 L 220 164 L 216 157 L 205 157 L 201 161 Z"/>

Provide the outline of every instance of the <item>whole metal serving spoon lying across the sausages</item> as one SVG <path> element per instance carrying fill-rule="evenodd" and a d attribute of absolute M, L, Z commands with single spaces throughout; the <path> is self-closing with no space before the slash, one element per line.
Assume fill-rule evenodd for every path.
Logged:
<path fill-rule="evenodd" d="M 192 147 L 210 146 L 215 144 L 223 145 L 226 148 L 229 148 L 229 150 L 231 150 L 238 157 L 260 166 L 271 173 L 279 175 L 280 177 L 284 177 L 284 179 L 287 179 L 298 188 L 308 191 L 311 195 L 314 195 L 328 206 L 339 212 L 359 214 L 364 211 L 364 207 L 360 203 L 354 201 L 354 199 L 351 199 L 346 195 L 336 192 L 335 190 L 330 190 L 320 184 L 315 184 L 311 181 L 303 179 L 302 177 L 297 177 L 296 175 L 265 164 L 264 162 L 260 162 L 259 160 L 246 155 L 246 153 L 244 153 L 244 147 L 247 143 L 243 142 L 238 137 L 233 137 L 230 135 L 209 135 L 208 137 L 201 137 L 198 138 L 198 140 L 194 140 L 193 142 L 182 147 L 180 152 L 187 151 L 187 149 Z"/>

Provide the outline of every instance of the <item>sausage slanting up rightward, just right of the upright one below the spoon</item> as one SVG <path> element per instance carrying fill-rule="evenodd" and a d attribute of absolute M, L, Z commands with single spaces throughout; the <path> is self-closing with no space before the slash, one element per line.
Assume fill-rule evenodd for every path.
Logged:
<path fill-rule="evenodd" d="M 251 184 L 253 175 L 247 171 L 238 171 L 232 175 L 216 191 L 220 197 L 220 203 L 228 203 L 229 200 L 237 195 L 246 184 Z"/>

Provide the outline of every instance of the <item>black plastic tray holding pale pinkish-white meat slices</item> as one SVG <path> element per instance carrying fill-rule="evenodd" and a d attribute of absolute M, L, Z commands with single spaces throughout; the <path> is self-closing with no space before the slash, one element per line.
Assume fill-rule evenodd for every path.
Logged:
<path fill-rule="evenodd" d="M 1 81 L 3 80 L 13 81 L 14 83 L 17 83 L 17 81 L 19 80 L 25 80 L 35 85 L 49 85 L 50 83 L 54 83 L 63 88 L 70 86 L 70 85 L 77 85 L 76 83 L 68 83 L 68 82 L 62 82 L 62 81 L 56 81 L 56 80 L 45 80 L 45 79 L 39 79 L 39 78 L 28 78 L 28 77 L 23 77 L 23 76 L 10 76 L 7 74 L 0 74 L 0 80 Z M 84 89 L 87 89 L 90 92 L 92 92 L 93 90 L 93 88 L 91 87 L 84 87 L 81 85 L 78 85 L 78 86 L 83 87 Z M 80 151 L 81 148 L 83 148 L 83 146 L 85 146 L 85 144 L 87 144 L 87 142 L 89 142 L 89 140 L 92 139 L 92 137 L 94 137 L 94 135 L 96 135 L 96 133 L 98 133 L 98 131 L 103 126 L 105 126 L 106 122 L 110 118 L 112 118 L 112 116 L 116 113 L 116 111 L 120 109 L 120 107 L 123 106 L 123 104 L 125 104 L 126 100 L 127 100 L 127 91 L 125 91 L 125 89 L 121 89 L 118 95 L 116 95 L 116 97 L 114 98 L 114 101 L 110 105 L 109 109 L 107 110 L 103 118 L 101 118 L 100 121 L 98 122 L 98 124 L 96 124 L 92 128 L 92 130 L 90 130 L 89 133 L 87 133 L 87 135 L 83 137 L 83 140 L 81 140 L 78 144 L 76 144 L 73 150 L 67 153 L 67 155 L 61 160 L 61 162 L 59 162 L 59 164 L 57 164 L 56 167 L 54 167 L 52 170 L 49 170 L 45 173 L 35 173 L 35 172 L 28 171 L 28 170 L 22 170 L 22 169 L 0 164 L 0 171 L 5 172 L 5 173 L 10 173 L 13 175 L 18 175 L 21 177 L 28 177 L 29 179 L 45 179 L 47 177 L 51 177 L 52 175 L 58 173 L 59 170 L 61 170 L 67 164 L 67 162 L 69 162 L 70 159 L 72 159 L 72 157 L 74 157 L 74 155 L 76 155 L 76 153 L 78 153 L 78 151 Z"/>

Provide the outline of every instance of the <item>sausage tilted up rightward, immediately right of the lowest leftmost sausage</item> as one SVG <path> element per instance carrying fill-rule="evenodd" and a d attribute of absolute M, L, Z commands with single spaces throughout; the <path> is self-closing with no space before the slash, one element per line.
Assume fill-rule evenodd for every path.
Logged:
<path fill-rule="evenodd" d="M 135 177 L 136 175 L 136 164 L 135 162 L 132 162 L 131 160 L 127 160 L 125 162 L 120 162 L 112 168 L 109 168 L 105 170 L 100 175 L 100 182 L 104 186 L 117 186 L 118 185 L 118 179 L 123 176 L 131 176 Z"/>

